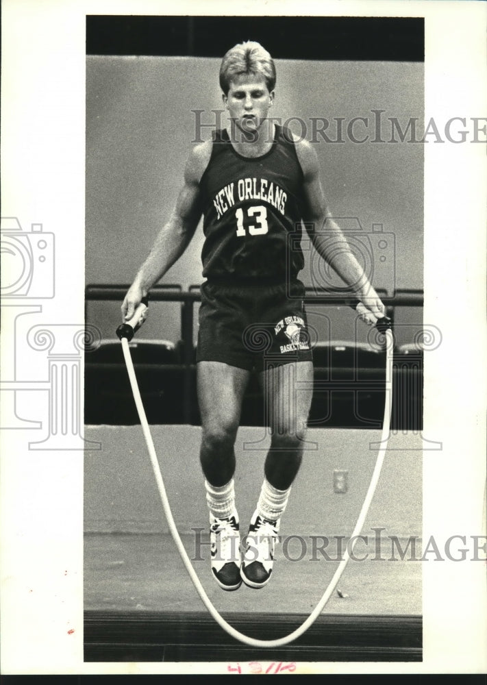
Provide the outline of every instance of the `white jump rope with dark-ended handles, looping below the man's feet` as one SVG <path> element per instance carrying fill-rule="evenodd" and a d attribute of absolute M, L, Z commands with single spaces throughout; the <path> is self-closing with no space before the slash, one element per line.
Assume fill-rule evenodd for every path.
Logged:
<path fill-rule="evenodd" d="M 236 638 L 236 640 L 239 640 L 241 643 L 249 645 L 250 647 L 282 647 L 282 645 L 288 645 L 288 643 L 292 642 L 293 640 L 296 640 L 301 635 L 303 635 L 303 633 L 306 630 L 308 630 L 308 628 L 314 623 L 314 621 L 316 621 L 318 616 L 321 614 L 321 612 L 327 604 L 327 601 L 332 596 L 334 589 L 336 588 L 338 581 L 340 580 L 340 577 L 342 576 L 343 571 L 345 571 L 345 567 L 347 566 L 347 563 L 349 562 L 349 559 L 353 554 L 353 548 L 355 547 L 355 543 L 357 542 L 358 536 L 360 535 L 360 532 L 362 531 L 362 528 L 364 526 L 364 522 L 369 512 L 369 507 L 371 506 L 371 501 L 375 493 L 375 488 L 377 487 L 377 482 L 379 481 L 379 476 L 382 470 L 382 464 L 384 463 L 384 458 L 386 456 L 390 427 L 390 414 L 392 408 L 392 349 L 394 346 L 394 340 L 392 338 L 391 321 L 390 319 L 388 319 L 387 316 L 384 316 L 382 319 L 378 319 L 377 323 L 375 324 L 379 332 L 384 334 L 386 338 L 386 401 L 384 403 L 384 423 L 382 425 L 382 435 L 379 443 L 379 453 L 377 454 L 377 460 L 375 462 L 371 482 L 369 484 L 369 489 L 367 490 L 364 503 L 362 504 L 362 509 L 360 510 L 360 514 L 358 516 L 357 523 L 355 523 L 355 527 L 353 528 L 353 532 L 351 534 L 351 543 L 347 545 L 347 549 L 345 550 L 345 553 L 342 556 L 342 560 L 340 561 L 340 564 L 338 565 L 338 568 L 336 569 L 332 577 L 332 580 L 329 582 L 327 589 L 323 593 L 320 601 L 316 604 L 316 607 L 308 616 L 308 618 L 305 619 L 305 621 L 301 623 L 301 625 L 296 630 L 292 631 L 291 633 L 282 638 L 277 638 L 275 640 L 259 640 L 258 638 L 252 638 L 248 635 L 239 632 L 232 625 L 227 623 L 227 621 L 225 621 L 225 619 L 223 619 L 223 617 L 218 613 L 218 610 L 216 610 L 216 608 L 212 604 L 212 601 L 205 593 L 205 590 L 201 585 L 199 577 L 197 576 L 195 569 L 193 569 L 192 567 L 188 554 L 186 553 L 186 549 L 184 549 L 184 545 L 179 536 L 179 533 L 177 532 L 177 527 L 173 519 L 173 514 L 171 512 L 171 506 L 169 506 L 169 501 L 167 499 L 166 488 L 164 487 L 164 480 L 162 479 L 162 473 L 160 470 L 158 458 L 155 453 L 155 447 L 152 440 L 151 431 L 149 429 L 149 423 L 147 421 L 147 416 L 145 415 L 144 406 L 142 404 L 142 398 L 140 397 L 140 390 L 138 388 L 137 378 L 134 371 L 134 364 L 132 363 L 132 357 L 130 355 L 129 348 L 129 341 L 132 340 L 137 329 L 140 327 L 140 325 L 142 325 L 143 321 L 145 321 L 148 304 L 149 303 L 147 298 L 142 299 L 142 302 L 136 309 L 136 312 L 134 313 L 134 316 L 132 316 L 132 319 L 118 326 L 118 328 L 116 329 L 116 335 L 118 336 L 118 338 L 120 338 L 122 343 L 123 357 L 125 358 L 125 364 L 127 365 L 130 385 L 132 387 L 132 393 L 134 394 L 134 400 L 136 403 L 136 408 L 140 419 L 140 425 L 142 426 L 142 432 L 144 433 L 147 450 L 149 451 L 149 458 L 151 460 L 151 465 L 155 476 L 155 482 L 158 486 L 159 495 L 162 501 L 162 508 L 164 509 L 164 514 L 166 515 L 169 530 L 171 531 L 171 536 L 173 537 L 175 545 L 179 551 L 179 554 L 181 555 L 184 566 L 186 566 L 186 571 L 188 571 L 190 578 L 197 590 L 197 593 L 201 597 L 201 601 L 203 601 L 203 604 L 208 609 L 210 614 L 213 616 L 216 623 L 218 623 L 218 625 L 220 625 L 223 628 L 223 630 L 225 630 L 232 637 Z"/>

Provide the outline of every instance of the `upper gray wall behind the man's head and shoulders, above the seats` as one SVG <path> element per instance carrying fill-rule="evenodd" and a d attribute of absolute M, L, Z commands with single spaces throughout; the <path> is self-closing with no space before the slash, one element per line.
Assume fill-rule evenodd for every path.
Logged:
<path fill-rule="evenodd" d="M 132 281 L 173 208 L 184 162 L 195 136 L 195 115 L 212 123 L 211 110 L 222 108 L 219 60 L 203 58 L 97 57 L 86 69 L 86 282 Z M 423 121 L 423 64 L 395 62 L 277 61 L 273 116 L 369 117 L 385 110 L 405 125 Z M 225 120 L 224 120 L 225 121 Z M 356 134 L 362 134 L 356 125 Z M 293 126 L 299 133 L 299 125 Z M 336 123 L 331 125 L 336 137 Z M 210 135 L 208 130 L 205 136 Z M 310 135 L 308 134 L 308 138 Z M 373 223 L 395 234 L 395 285 L 423 284 L 423 146 L 412 143 L 362 145 L 347 140 L 319 142 L 316 151 L 329 206 L 335 216 L 358 217 L 364 232 Z M 343 227 L 351 227 L 343 222 Z M 162 282 L 201 283 L 201 228 L 184 256 Z M 390 262 L 389 262 L 390 264 Z M 390 286 L 377 272 L 376 287 Z M 310 282 L 309 270 L 303 280 Z M 145 335 L 177 338 L 177 306 L 153 308 Z M 333 312 L 331 316 L 334 316 Z M 348 314 L 345 314 L 347 319 Z M 88 318 L 105 336 L 119 323 L 118 303 L 92 304 Z M 349 316 L 348 316 L 349 318 Z M 349 323 L 335 316 L 334 338 L 347 337 Z M 350 319 L 349 319 L 350 321 Z"/>

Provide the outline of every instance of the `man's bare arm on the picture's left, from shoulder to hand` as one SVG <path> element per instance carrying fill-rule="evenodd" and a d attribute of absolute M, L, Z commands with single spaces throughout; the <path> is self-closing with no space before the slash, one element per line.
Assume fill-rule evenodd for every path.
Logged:
<path fill-rule="evenodd" d="M 160 230 L 149 256 L 142 264 L 122 304 L 122 314 L 127 321 L 152 286 L 182 256 L 195 234 L 201 218 L 199 181 L 211 154 L 211 147 L 203 143 L 189 155 L 184 170 L 184 184 L 179 190 L 171 216 Z"/>

